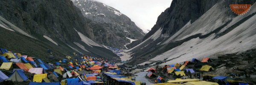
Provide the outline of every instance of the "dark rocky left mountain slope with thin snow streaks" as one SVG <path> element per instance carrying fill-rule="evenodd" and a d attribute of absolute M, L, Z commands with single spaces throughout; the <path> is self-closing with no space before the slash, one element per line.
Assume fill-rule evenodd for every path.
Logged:
<path fill-rule="evenodd" d="M 33 53 L 46 51 L 48 47 L 62 55 L 76 52 L 95 57 L 116 57 L 112 51 L 93 41 L 96 40 L 93 28 L 102 27 L 85 18 L 70 0 L 1 0 L 0 16 L 1 31 L 4 31 L 3 28 L 9 29 L 11 34 L 1 38 L 0 48 L 16 52 L 29 50 L 31 54 L 28 55 L 35 57 L 44 57 L 42 53 Z M 17 36 L 12 34 L 26 35 L 28 38 L 20 38 L 25 43 L 13 42 Z M 26 44 L 26 41 L 30 40 L 35 42 L 35 46 L 49 46 L 42 49 L 33 48 Z M 16 48 L 19 46 L 23 48 Z"/>

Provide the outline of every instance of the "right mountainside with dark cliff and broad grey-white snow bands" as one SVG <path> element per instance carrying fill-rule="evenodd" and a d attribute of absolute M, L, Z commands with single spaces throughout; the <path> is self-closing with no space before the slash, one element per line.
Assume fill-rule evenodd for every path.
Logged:
<path fill-rule="evenodd" d="M 156 25 L 127 53 L 128 64 L 182 63 L 192 58 L 241 54 L 256 48 L 256 0 L 173 0 Z M 250 11 L 236 15 L 230 4 L 251 4 Z M 242 41 L 241 43 L 239 43 Z M 150 56 L 151 55 L 151 56 Z M 151 59 L 151 60 L 150 60 Z M 172 62 L 175 61 L 175 62 Z"/>

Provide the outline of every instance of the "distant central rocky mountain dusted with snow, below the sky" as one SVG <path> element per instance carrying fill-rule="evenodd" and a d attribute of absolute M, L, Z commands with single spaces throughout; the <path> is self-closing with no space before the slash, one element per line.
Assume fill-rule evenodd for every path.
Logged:
<path fill-rule="evenodd" d="M 72 0 L 84 17 L 99 23 L 103 28 L 93 28 L 97 42 L 102 45 L 124 47 L 129 43 L 126 37 L 143 39 L 145 32 L 120 11 L 94 0 Z"/>

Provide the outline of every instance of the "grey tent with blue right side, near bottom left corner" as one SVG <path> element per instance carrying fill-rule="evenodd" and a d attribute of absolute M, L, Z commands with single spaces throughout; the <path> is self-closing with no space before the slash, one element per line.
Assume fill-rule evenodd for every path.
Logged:
<path fill-rule="evenodd" d="M 15 70 L 9 75 L 9 79 L 12 79 L 13 82 L 23 82 L 28 79 L 26 75 L 21 70 Z"/>

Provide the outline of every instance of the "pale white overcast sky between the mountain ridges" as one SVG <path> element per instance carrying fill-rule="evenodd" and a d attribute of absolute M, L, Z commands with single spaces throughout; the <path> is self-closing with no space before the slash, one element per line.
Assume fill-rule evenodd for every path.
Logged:
<path fill-rule="evenodd" d="M 157 17 L 171 6 L 172 0 L 96 0 L 116 8 L 141 29 L 151 30 Z"/>

